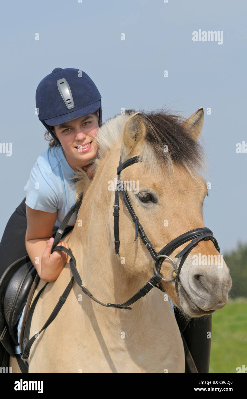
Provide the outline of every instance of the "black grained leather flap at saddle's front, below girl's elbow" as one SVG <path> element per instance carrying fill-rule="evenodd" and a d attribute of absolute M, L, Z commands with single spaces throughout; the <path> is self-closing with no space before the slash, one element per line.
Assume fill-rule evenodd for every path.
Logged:
<path fill-rule="evenodd" d="M 13 328 L 18 322 L 33 280 L 37 275 L 37 271 L 32 265 L 29 257 L 23 259 L 23 264 L 21 266 L 20 263 L 18 270 L 8 283 L 4 296 L 4 316 L 10 334 L 13 334 Z"/>

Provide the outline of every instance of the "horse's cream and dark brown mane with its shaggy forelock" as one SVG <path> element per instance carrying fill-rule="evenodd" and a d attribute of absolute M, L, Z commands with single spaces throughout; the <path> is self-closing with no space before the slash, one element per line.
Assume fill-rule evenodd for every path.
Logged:
<path fill-rule="evenodd" d="M 93 160 L 95 171 L 101 159 L 119 140 L 126 120 L 136 112 L 134 109 L 125 110 L 125 114 L 115 115 L 99 128 L 95 137 L 99 147 Z M 183 122 L 186 119 L 171 113 L 165 107 L 151 112 L 139 112 L 140 119 L 146 127 L 146 138 L 139 153 L 142 161 L 140 172 L 148 169 L 151 172 L 163 173 L 165 169 L 171 175 L 173 164 L 180 164 L 196 179 L 195 171 L 204 171 L 204 153 L 198 140 L 193 140 L 184 127 Z M 164 146 L 167 146 L 167 151 Z M 84 174 L 80 169 L 74 175 L 76 192 L 82 192 L 82 188 L 88 187 L 88 183 L 91 182 Z"/>

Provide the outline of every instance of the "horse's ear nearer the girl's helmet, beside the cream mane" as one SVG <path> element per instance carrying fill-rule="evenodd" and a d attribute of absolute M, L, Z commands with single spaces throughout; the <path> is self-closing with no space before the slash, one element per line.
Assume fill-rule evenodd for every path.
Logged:
<path fill-rule="evenodd" d="M 121 146 L 122 159 L 130 152 L 138 151 L 140 144 L 144 141 L 146 136 L 146 128 L 140 119 L 140 112 L 129 117 L 123 127 L 123 142 Z"/>

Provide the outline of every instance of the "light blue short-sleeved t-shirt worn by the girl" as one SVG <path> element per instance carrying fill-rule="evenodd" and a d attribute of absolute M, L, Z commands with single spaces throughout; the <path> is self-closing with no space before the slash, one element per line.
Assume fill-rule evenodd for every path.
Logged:
<path fill-rule="evenodd" d="M 71 182 L 74 172 L 66 161 L 62 147 L 48 148 L 37 159 L 24 187 L 26 205 L 39 211 L 57 211 L 55 227 L 59 227 L 76 202 Z M 76 213 L 70 218 L 68 226 L 75 223 Z"/>

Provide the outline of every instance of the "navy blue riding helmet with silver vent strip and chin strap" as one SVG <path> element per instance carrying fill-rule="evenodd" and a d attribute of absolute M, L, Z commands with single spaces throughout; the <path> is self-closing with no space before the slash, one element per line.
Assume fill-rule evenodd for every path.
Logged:
<path fill-rule="evenodd" d="M 102 125 L 101 95 L 92 79 L 80 69 L 55 68 L 36 90 L 39 120 L 61 144 L 49 126 L 68 122 L 99 110 Z"/>

